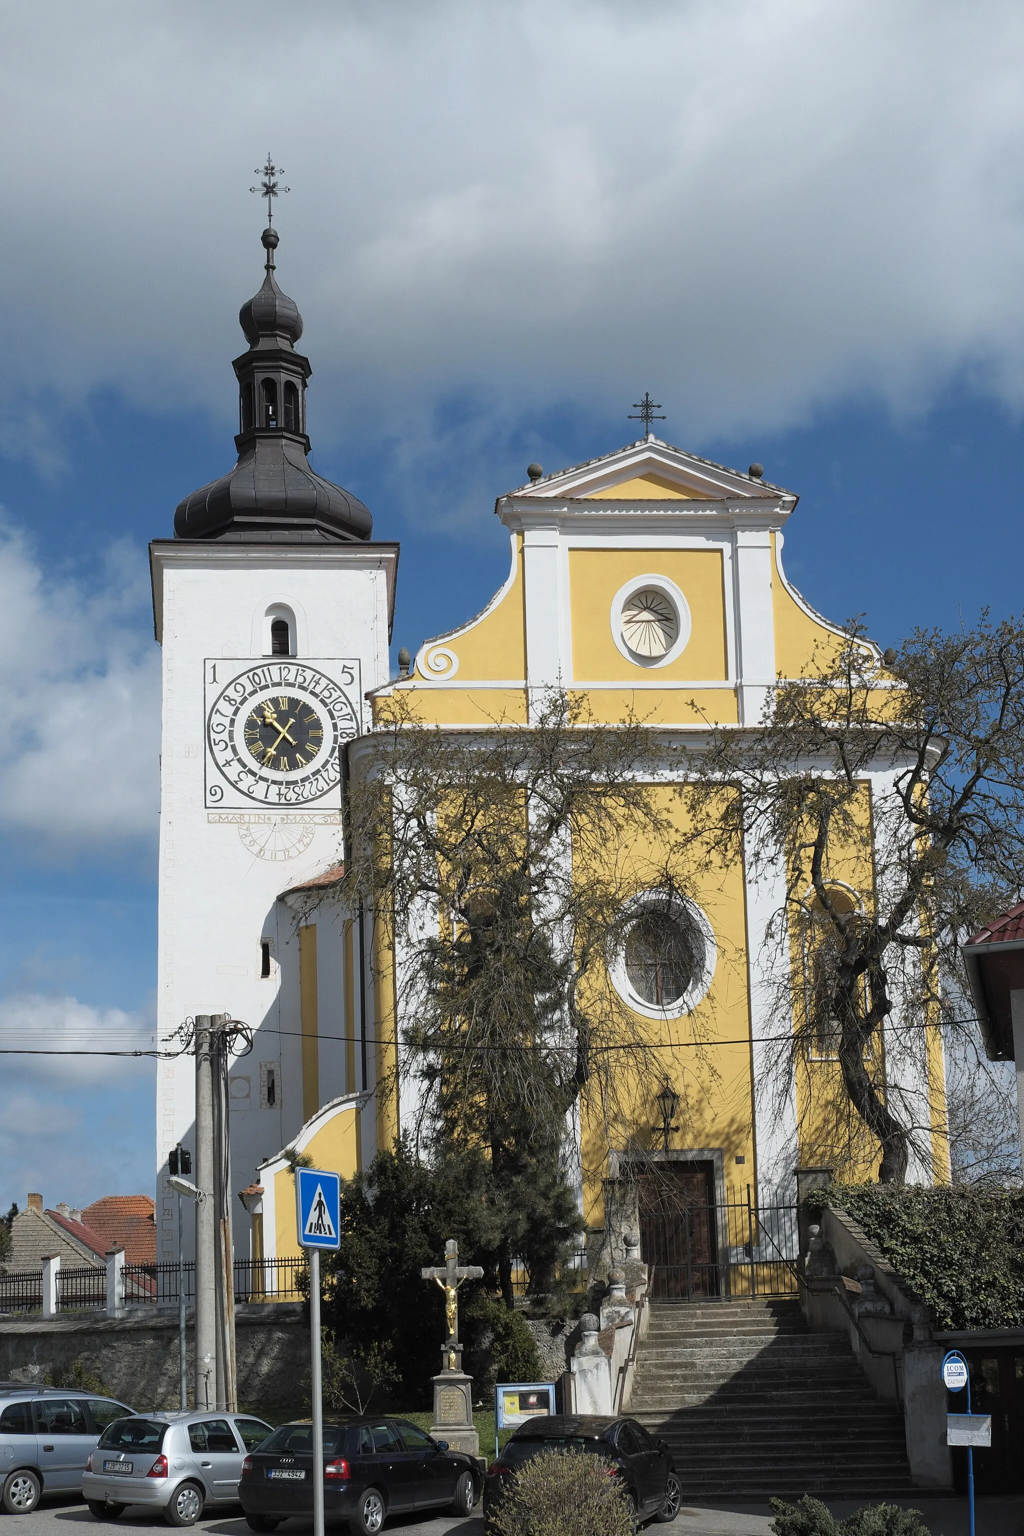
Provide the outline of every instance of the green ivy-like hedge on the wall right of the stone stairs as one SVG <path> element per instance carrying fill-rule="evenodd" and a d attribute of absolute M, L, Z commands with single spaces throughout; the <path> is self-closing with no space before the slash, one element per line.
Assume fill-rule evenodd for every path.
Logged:
<path fill-rule="evenodd" d="M 1024 1326 L 1024 1192 L 837 1184 L 808 1204 L 847 1210 L 938 1329 Z"/>

